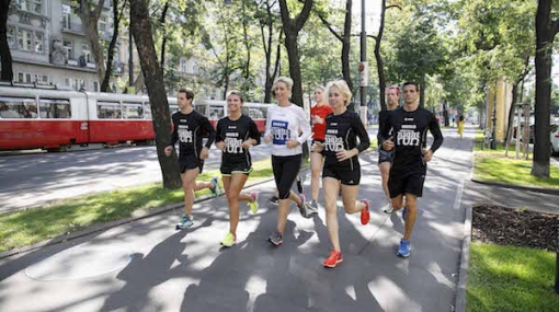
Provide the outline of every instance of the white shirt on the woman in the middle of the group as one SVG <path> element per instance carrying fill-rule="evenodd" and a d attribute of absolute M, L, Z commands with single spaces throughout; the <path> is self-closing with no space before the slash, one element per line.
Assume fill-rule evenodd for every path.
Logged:
<path fill-rule="evenodd" d="M 301 130 L 300 136 L 299 129 Z M 272 136 L 273 155 L 285 157 L 303 153 L 301 145 L 307 141 L 310 134 L 310 124 L 301 107 L 292 104 L 285 107 L 274 105 L 267 108 L 265 136 Z M 285 146 L 288 139 L 297 140 L 299 145 L 289 149 Z"/>

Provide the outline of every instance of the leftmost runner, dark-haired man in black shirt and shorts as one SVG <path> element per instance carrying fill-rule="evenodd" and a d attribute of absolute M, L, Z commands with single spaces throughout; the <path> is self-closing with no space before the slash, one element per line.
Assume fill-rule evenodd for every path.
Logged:
<path fill-rule="evenodd" d="M 181 180 L 184 189 L 184 216 L 176 224 L 176 230 L 187 229 L 194 224 L 192 218 L 192 206 L 194 205 L 194 192 L 209 188 L 214 197 L 219 195 L 219 181 L 217 176 L 212 182 L 198 182 L 196 178 L 204 169 L 204 160 L 208 157 L 209 147 L 214 143 L 216 131 L 209 120 L 194 111 L 192 101 L 194 92 L 190 89 L 179 90 L 176 103 L 180 111 L 171 117 L 173 123 L 173 134 L 171 143 L 164 152 L 169 157 L 179 141 L 179 165 L 181 166 Z M 207 142 L 202 147 L 202 134 L 208 134 Z"/>

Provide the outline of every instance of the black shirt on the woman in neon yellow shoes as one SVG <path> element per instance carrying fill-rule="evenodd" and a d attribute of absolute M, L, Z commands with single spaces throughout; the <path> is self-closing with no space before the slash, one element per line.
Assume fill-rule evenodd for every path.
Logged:
<path fill-rule="evenodd" d="M 256 145 L 260 145 L 260 131 L 251 117 L 241 115 L 237 120 L 231 120 L 229 117 L 219 119 L 216 142 L 225 141 L 221 163 L 250 163 L 250 152 L 241 146 L 248 139 L 254 139 Z"/>

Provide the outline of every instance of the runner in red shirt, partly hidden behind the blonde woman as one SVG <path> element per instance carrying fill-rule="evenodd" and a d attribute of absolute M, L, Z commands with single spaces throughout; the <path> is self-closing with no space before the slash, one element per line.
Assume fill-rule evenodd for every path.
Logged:
<path fill-rule="evenodd" d="M 310 108 L 310 118 L 312 122 L 312 143 L 323 143 L 324 142 L 324 131 L 326 131 L 326 117 L 333 112 L 332 107 L 328 104 L 324 104 L 322 93 L 324 92 L 324 86 L 318 86 L 315 89 L 315 101 L 317 103 L 312 108 Z M 310 197 L 311 200 L 307 205 L 309 213 L 318 212 L 318 193 L 320 188 L 320 171 L 322 169 L 322 160 L 323 155 L 320 152 L 311 152 L 310 153 Z"/>

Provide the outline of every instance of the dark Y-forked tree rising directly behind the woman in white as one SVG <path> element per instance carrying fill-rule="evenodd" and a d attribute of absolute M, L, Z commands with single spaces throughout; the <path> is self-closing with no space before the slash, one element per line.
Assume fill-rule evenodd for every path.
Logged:
<path fill-rule="evenodd" d="M 284 34 L 285 34 L 285 48 L 287 49 L 287 57 L 289 58 L 289 76 L 294 81 L 292 90 L 292 101 L 298 106 L 303 107 L 303 83 L 300 74 L 300 60 L 299 47 L 297 39 L 299 32 L 309 19 L 310 10 L 312 9 L 313 0 L 305 0 L 304 7 L 295 19 L 290 18 L 289 9 L 286 0 L 280 0 L 280 12 L 282 14 Z"/>

